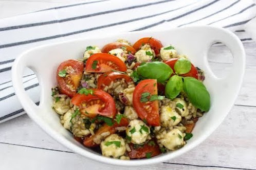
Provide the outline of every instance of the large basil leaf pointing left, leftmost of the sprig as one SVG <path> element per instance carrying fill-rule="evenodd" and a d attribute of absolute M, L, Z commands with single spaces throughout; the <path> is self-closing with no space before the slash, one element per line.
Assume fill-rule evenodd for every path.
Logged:
<path fill-rule="evenodd" d="M 169 79 L 173 71 L 166 63 L 155 61 L 139 66 L 137 73 L 145 79 L 157 79 L 158 82 L 164 82 Z"/>

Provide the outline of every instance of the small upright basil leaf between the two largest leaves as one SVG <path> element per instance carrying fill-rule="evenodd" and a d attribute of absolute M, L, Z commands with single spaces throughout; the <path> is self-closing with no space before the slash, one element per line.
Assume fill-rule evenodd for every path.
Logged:
<path fill-rule="evenodd" d="M 174 75 L 168 80 L 166 84 L 165 95 L 169 99 L 174 99 L 179 95 L 181 90 L 182 78 L 180 76 Z"/>

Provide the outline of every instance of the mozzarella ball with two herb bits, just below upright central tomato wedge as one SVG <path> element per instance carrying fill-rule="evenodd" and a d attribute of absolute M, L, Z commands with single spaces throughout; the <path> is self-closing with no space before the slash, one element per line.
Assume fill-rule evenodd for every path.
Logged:
<path fill-rule="evenodd" d="M 126 129 L 126 135 L 131 137 L 134 144 L 144 143 L 150 134 L 150 128 L 142 120 L 134 119 L 130 121 Z"/>

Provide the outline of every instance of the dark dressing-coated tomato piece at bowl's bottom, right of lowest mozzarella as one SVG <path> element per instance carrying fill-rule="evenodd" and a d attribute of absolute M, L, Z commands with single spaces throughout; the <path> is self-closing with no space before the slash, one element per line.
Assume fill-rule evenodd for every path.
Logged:
<path fill-rule="evenodd" d="M 148 143 L 145 143 L 143 146 L 135 147 L 134 144 L 129 144 L 131 152 L 128 153 L 130 159 L 140 159 L 147 158 L 147 154 L 150 157 L 154 157 L 161 154 L 158 144 L 154 140 L 150 140 Z"/>

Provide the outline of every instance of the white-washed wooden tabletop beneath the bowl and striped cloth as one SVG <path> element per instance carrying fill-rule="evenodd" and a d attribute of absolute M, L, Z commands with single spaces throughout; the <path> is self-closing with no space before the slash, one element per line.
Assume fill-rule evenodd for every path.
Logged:
<path fill-rule="evenodd" d="M 82 1 L 0 0 L 0 18 L 71 2 Z M 125 169 L 256 169 L 256 43 L 248 42 L 244 47 L 246 71 L 243 87 L 220 127 L 202 144 L 178 158 Z M 226 46 L 213 46 L 208 60 L 218 77 L 225 77 L 232 66 L 232 55 Z M 0 169 L 124 168 L 72 153 L 50 138 L 27 115 L 0 124 L 0 160 Z"/>

